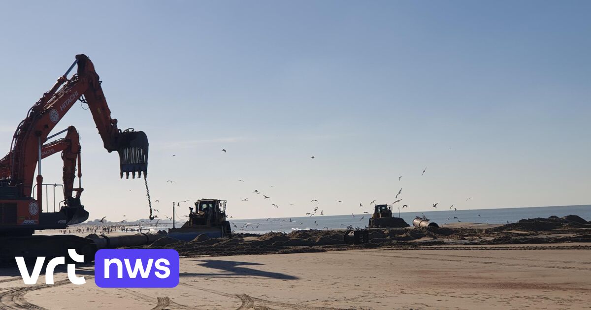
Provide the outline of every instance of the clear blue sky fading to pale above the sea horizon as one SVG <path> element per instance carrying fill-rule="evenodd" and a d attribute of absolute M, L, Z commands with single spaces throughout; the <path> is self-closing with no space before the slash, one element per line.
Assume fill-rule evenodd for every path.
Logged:
<path fill-rule="evenodd" d="M 591 203 L 591 2 L 34 4 L 0 4 L 5 152 L 85 53 L 119 127 L 150 139 L 163 215 L 197 198 L 234 218 L 362 213 L 400 188 L 409 211 Z M 89 219 L 147 217 L 80 103 L 68 125 Z M 59 156 L 43 171 L 61 182 Z"/>

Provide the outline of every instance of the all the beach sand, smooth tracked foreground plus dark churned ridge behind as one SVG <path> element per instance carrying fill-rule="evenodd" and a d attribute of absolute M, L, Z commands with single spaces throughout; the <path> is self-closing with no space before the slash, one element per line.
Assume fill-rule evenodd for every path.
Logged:
<path fill-rule="evenodd" d="M 174 289 L 101 289 L 93 265 L 85 285 L 60 266 L 55 285 L 25 286 L 1 268 L 0 309 L 591 309 L 591 223 L 574 216 L 377 229 L 361 245 L 327 230 L 158 241 L 184 256 Z"/>

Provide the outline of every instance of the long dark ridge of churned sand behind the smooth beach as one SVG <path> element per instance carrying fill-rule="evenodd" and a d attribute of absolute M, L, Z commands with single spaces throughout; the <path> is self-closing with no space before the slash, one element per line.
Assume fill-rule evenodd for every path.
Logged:
<path fill-rule="evenodd" d="M 232 238 L 197 236 L 191 242 L 168 237 L 152 249 L 175 249 L 181 256 L 226 256 L 323 252 L 367 247 L 412 248 L 440 244 L 537 244 L 591 242 L 591 223 L 578 216 L 529 218 L 494 229 L 420 227 L 369 229 L 369 243 L 345 244 L 345 230 L 300 230 L 263 235 L 235 234 Z M 557 236 L 558 235 L 558 236 Z"/>

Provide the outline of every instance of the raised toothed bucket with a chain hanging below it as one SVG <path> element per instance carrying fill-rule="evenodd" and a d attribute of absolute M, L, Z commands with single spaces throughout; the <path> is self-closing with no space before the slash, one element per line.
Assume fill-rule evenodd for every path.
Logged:
<path fill-rule="evenodd" d="M 138 178 L 144 172 L 144 177 L 148 175 L 148 136 L 143 131 L 125 130 L 119 135 L 119 163 L 121 164 L 121 178 L 125 173 L 129 178 L 129 172 L 135 178 L 135 172 L 138 172 Z"/>

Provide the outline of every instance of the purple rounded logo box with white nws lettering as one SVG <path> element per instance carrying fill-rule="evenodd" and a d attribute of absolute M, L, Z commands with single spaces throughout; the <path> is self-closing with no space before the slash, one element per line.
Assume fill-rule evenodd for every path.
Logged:
<path fill-rule="evenodd" d="M 95 254 L 99 288 L 174 288 L 178 252 L 172 249 L 102 249 Z"/>

